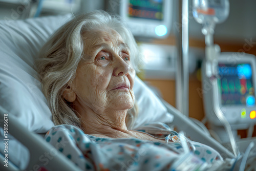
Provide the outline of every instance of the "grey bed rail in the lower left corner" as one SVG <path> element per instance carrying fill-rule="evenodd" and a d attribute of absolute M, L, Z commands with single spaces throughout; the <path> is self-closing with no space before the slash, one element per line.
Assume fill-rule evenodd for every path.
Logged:
<path fill-rule="evenodd" d="M 58 152 L 57 149 L 51 144 L 47 143 L 39 135 L 30 132 L 24 125 L 22 125 L 18 119 L 7 112 L 2 106 L 0 106 L 0 126 L 4 128 L 4 114 L 8 114 L 8 134 L 14 136 L 19 142 L 25 145 L 30 153 L 30 161 L 25 170 L 38 170 L 39 166 L 45 167 L 48 170 L 81 170 L 73 162 L 71 162 L 66 156 Z M 0 140 L 2 141 L 2 140 Z M 48 162 L 41 160 L 41 156 L 45 153 L 51 154 Z M 47 164 L 46 164 L 47 163 Z M 0 168 L 3 168 L 1 164 Z M 8 163 L 9 167 L 9 163 Z M 3 170 L 13 170 L 15 167 L 5 167 Z M 1 169 L 2 170 L 2 169 Z M 18 170 L 18 169 L 17 169 Z"/>

